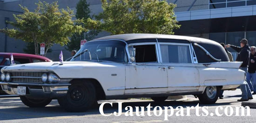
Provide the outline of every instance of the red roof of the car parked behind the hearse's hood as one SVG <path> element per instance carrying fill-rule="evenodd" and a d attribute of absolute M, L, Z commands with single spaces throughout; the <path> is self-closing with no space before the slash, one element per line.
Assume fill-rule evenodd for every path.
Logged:
<path fill-rule="evenodd" d="M 10 56 L 10 52 L 0 52 L 0 56 Z M 37 58 L 37 59 L 43 59 L 46 61 L 51 61 L 49 58 L 39 56 L 39 55 L 34 55 L 34 54 L 25 54 L 25 53 L 13 53 L 13 57 L 27 57 L 27 58 Z"/>

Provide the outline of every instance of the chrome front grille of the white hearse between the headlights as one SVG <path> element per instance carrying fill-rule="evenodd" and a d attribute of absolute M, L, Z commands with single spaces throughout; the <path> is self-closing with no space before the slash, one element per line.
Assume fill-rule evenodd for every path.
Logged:
<path fill-rule="evenodd" d="M 42 84 L 41 76 L 43 73 L 44 72 L 11 72 L 12 82 Z"/>

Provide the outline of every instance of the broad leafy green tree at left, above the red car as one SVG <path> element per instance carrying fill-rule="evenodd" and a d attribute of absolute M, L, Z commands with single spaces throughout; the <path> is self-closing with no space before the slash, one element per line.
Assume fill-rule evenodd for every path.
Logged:
<path fill-rule="evenodd" d="M 34 12 L 30 12 L 27 7 L 20 6 L 24 13 L 13 15 L 16 22 L 8 22 L 16 29 L 1 29 L 9 37 L 21 39 L 25 42 L 34 43 L 34 54 L 39 54 L 39 43 L 46 44 L 45 55 L 48 49 L 54 44 L 67 45 L 74 33 L 86 31 L 80 25 L 80 19 L 72 20 L 73 11 L 59 9 L 57 2 L 49 4 L 40 2 L 36 4 Z"/>

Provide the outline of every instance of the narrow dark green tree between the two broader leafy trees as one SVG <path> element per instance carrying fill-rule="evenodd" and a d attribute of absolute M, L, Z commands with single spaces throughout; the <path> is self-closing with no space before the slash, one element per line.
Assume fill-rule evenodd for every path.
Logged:
<path fill-rule="evenodd" d="M 75 17 L 77 19 L 83 19 L 84 23 L 77 23 L 77 25 L 81 25 L 82 27 L 90 29 L 88 32 L 82 32 L 81 34 L 75 33 L 71 37 L 71 41 L 67 44 L 67 50 L 79 50 L 80 49 L 80 41 L 82 39 L 91 40 L 94 39 L 95 36 L 98 35 L 99 30 L 95 27 L 97 24 L 96 21 L 92 20 L 94 16 L 90 16 L 89 4 L 86 0 L 79 0 L 76 5 L 76 14 Z"/>

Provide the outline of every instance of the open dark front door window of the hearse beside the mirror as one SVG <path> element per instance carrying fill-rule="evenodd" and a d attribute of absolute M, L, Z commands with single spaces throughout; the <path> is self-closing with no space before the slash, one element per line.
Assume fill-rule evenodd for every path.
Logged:
<path fill-rule="evenodd" d="M 131 50 L 129 49 L 129 52 Z M 135 54 L 131 58 L 135 58 L 136 63 L 157 62 L 155 45 L 135 45 L 133 51 Z"/>

